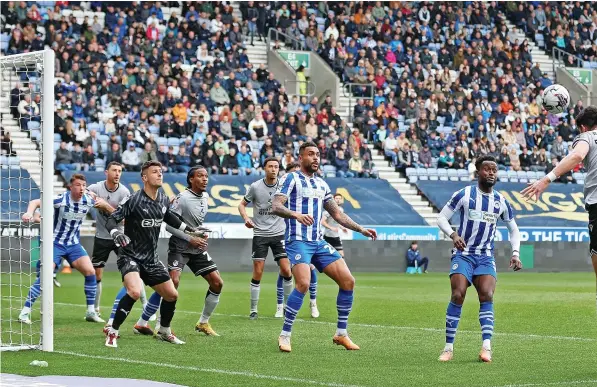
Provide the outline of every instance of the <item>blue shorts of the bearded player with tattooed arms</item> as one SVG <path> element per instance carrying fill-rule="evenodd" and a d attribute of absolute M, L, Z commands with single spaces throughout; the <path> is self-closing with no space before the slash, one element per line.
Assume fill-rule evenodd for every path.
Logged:
<path fill-rule="evenodd" d="M 330 263 L 342 256 L 326 241 L 290 241 L 286 242 L 286 254 L 292 266 L 299 263 L 312 263 L 319 272 L 323 272 Z"/>

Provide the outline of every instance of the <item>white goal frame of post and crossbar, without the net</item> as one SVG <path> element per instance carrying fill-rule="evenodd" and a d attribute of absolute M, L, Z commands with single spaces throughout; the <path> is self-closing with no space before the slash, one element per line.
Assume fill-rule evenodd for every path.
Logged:
<path fill-rule="evenodd" d="M 39 345 L 15 345 L 1 347 L 0 351 L 41 349 L 54 351 L 54 70 L 55 53 L 51 49 L 31 53 L 0 56 L 2 62 L 43 64 L 42 103 L 41 103 L 41 224 L 40 224 L 40 263 L 41 263 L 41 332 Z M 7 96 L 10 98 L 10 96 Z"/>

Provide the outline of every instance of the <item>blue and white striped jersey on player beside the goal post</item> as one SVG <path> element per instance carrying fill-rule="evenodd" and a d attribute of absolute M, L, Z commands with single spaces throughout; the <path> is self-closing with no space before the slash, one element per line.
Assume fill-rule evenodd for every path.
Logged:
<path fill-rule="evenodd" d="M 73 201 L 69 191 L 54 198 L 54 243 L 63 246 L 78 244 L 81 224 L 94 203 L 86 193 L 78 202 Z"/>

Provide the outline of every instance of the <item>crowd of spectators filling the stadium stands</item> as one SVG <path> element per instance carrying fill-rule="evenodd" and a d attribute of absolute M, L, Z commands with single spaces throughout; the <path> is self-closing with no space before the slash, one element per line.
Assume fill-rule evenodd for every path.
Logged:
<path fill-rule="evenodd" d="M 551 80 L 526 40 L 508 39 L 506 15 L 541 15 L 534 3 L 243 2 L 242 20 L 220 2 L 183 2 L 169 18 L 161 8 L 178 2 L 81 3 L 105 12 L 103 25 L 64 16 L 61 2 L 23 4 L 2 4 L 16 26 L 8 52 L 37 40 L 56 51 L 56 133 L 83 156 L 91 141 L 95 160 L 72 162 L 81 168 L 118 160 L 134 171 L 155 157 L 172 172 L 260 174 L 265 157 L 287 164 L 314 140 L 322 171 L 332 165 L 337 176 L 376 176 L 368 141 L 398 170 L 468 168 L 490 153 L 501 169 L 545 171 L 578 132 L 582 103 L 564 117 L 544 111 L 536 97 Z M 590 3 L 542 7 L 543 31 L 595 29 L 588 19 L 572 28 L 571 17 L 553 25 L 579 10 L 592 20 Z M 359 98 L 355 130 L 330 99 L 288 95 L 254 68 L 246 45 L 270 28 L 319 54 Z"/>

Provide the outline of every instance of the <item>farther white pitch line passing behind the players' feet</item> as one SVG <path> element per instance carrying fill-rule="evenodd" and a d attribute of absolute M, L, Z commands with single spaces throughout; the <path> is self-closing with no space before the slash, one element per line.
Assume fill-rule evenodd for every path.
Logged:
<path fill-rule="evenodd" d="M 54 305 L 61 305 L 61 306 L 78 306 L 78 307 L 86 307 L 82 304 L 69 304 L 64 302 L 55 302 Z M 193 315 L 200 315 L 201 312 L 193 312 L 188 310 L 176 310 L 176 313 L 184 313 L 184 314 L 193 314 Z M 247 317 L 243 314 L 225 314 L 225 313 L 214 313 L 214 316 L 224 316 L 224 317 Z M 259 317 L 259 319 L 266 319 L 266 320 L 280 320 L 282 319 L 275 318 L 275 317 Z M 297 322 L 304 322 L 309 324 L 323 324 L 323 325 L 333 325 L 335 326 L 335 322 L 329 321 L 316 321 L 316 320 L 305 320 L 297 318 L 295 321 Z M 424 327 L 405 327 L 405 326 L 397 326 L 397 325 L 378 325 L 378 324 L 363 324 L 363 323 L 349 323 L 352 327 L 361 327 L 361 328 L 380 328 L 380 329 L 396 329 L 396 330 L 404 330 L 404 331 L 424 331 L 424 332 L 441 332 L 444 333 L 444 329 L 440 328 L 424 328 Z M 461 334 L 474 334 L 478 335 L 479 331 L 466 331 L 466 330 L 459 330 L 458 333 Z M 526 334 L 526 333 L 509 333 L 509 332 L 494 332 L 494 336 L 505 336 L 505 337 L 517 337 L 521 339 L 546 339 L 546 340 L 568 340 L 568 341 L 585 341 L 585 342 L 597 342 L 597 339 L 591 337 L 576 337 L 576 336 L 550 336 L 550 335 L 535 335 L 535 334 Z"/>

